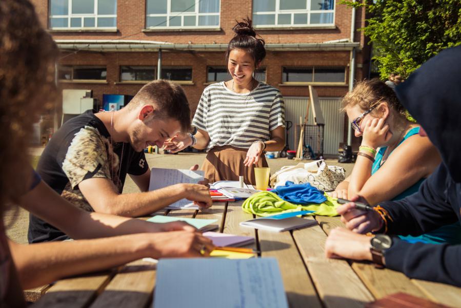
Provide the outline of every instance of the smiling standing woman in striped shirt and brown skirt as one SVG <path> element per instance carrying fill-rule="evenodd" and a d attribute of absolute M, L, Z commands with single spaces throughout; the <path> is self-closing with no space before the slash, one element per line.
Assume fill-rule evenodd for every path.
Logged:
<path fill-rule="evenodd" d="M 264 151 L 285 145 L 285 108 L 278 89 L 253 78 L 266 50 L 251 20 L 232 30 L 235 36 L 226 52 L 232 79 L 205 88 L 192 121 L 196 134 L 177 137 L 165 149 L 206 148 L 202 169 L 211 183 L 244 176 L 245 183 L 254 185 L 253 166 L 268 166 Z"/>

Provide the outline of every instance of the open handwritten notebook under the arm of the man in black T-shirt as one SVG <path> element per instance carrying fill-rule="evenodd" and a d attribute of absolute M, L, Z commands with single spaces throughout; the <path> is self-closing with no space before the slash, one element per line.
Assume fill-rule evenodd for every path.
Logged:
<path fill-rule="evenodd" d="M 197 184 L 204 179 L 202 170 L 152 168 L 150 171 L 149 191 L 179 183 Z M 187 199 L 178 200 L 167 209 L 198 209 L 198 205 Z"/>

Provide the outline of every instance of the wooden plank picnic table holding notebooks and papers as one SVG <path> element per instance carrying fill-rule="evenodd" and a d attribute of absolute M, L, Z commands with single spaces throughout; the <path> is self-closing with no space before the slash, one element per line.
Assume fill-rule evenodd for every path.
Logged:
<path fill-rule="evenodd" d="M 405 292 L 420 298 L 461 306 L 461 288 L 409 279 L 368 262 L 327 259 L 325 241 L 330 230 L 343 226 L 339 217 L 308 217 L 318 225 L 290 232 L 269 232 L 241 227 L 253 218 L 242 202 L 214 203 L 206 212 L 165 210 L 156 215 L 217 219 L 219 232 L 254 236 L 246 247 L 258 249 L 260 257 L 278 260 L 290 307 L 363 307 L 384 296 Z M 26 291 L 33 307 L 146 307 L 152 305 L 155 265 L 138 260 L 110 271 L 72 277 Z M 178 296 L 181 296 L 178 294 Z"/>

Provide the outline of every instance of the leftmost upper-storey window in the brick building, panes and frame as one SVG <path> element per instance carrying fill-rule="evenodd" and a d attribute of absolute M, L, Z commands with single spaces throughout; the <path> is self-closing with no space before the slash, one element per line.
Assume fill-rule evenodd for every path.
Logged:
<path fill-rule="evenodd" d="M 50 0 L 50 29 L 117 27 L 117 0 Z"/>

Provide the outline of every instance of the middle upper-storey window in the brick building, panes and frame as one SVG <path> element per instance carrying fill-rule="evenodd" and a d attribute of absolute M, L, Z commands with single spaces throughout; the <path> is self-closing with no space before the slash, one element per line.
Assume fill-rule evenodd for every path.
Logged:
<path fill-rule="evenodd" d="M 147 0 L 146 28 L 215 28 L 219 0 Z"/>

